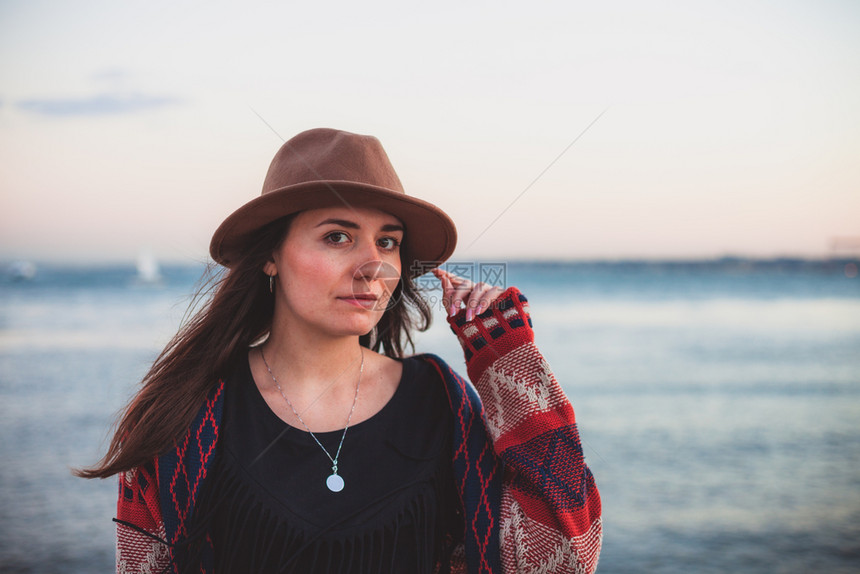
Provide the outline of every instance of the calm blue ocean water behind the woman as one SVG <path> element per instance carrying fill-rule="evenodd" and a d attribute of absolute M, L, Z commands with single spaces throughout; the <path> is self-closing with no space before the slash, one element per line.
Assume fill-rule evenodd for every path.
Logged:
<path fill-rule="evenodd" d="M 856 263 L 495 269 L 574 404 L 604 504 L 598 572 L 860 572 Z M 0 571 L 112 570 L 116 482 L 69 469 L 103 452 L 202 269 L 162 271 L 0 277 Z M 441 314 L 418 350 L 465 373 Z"/>

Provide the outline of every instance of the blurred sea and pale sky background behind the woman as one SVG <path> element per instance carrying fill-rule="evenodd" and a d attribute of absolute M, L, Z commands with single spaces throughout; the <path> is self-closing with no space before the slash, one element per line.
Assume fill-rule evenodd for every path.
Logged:
<path fill-rule="evenodd" d="M 69 468 L 320 126 L 379 137 L 452 261 L 529 297 L 599 572 L 857 571 L 858 30 L 847 1 L 0 3 L 0 571 L 112 568 L 115 483 Z M 440 313 L 418 350 L 464 371 Z"/>

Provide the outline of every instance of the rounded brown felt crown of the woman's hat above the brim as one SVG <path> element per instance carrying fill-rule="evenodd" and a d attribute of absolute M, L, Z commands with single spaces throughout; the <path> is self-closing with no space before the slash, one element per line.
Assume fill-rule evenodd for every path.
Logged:
<path fill-rule="evenodd" d="M 405 194 L 378 139 L 318 128 L 302 132 L 281 146 L 269 166 L 262 195 L 319 181 L 363 183 Z"/>

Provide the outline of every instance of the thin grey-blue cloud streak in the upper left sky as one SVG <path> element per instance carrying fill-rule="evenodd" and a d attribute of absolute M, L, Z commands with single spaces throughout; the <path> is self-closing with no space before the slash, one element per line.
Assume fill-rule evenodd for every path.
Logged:
<path fill-rule="evenodd" d="M 144 94 L 102 93 L 84 98 L 22 100 L 19 109 L 49 117 L 113 116 L 134 114 L 180 104 L 179 98 Z"/>

